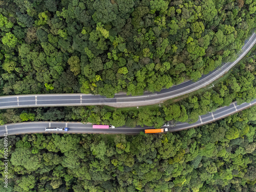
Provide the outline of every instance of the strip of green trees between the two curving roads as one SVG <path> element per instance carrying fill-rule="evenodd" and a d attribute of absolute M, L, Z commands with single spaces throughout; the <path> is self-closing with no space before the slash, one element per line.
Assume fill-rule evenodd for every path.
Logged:
<path fill-rule="evenodd" d="M 109 106 L 70 106 L 55 108 L 28 108 L 1 110 L 0 123 L 21 121 L 81 121 L 114 126 L 155 126 L 165 121 L 196 122 L 199 115 L 229 105 L 250 102 L 256 98 L 255 47 L 230 71 L 224 81 L 215 87 L 198 91 L 178 102 L 165 102 L 161 106 L 114 109 Z"/>

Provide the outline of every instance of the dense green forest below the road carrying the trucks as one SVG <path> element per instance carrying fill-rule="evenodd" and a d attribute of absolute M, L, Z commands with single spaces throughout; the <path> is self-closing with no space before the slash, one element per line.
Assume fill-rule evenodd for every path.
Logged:
<path fill-rule="evenodd" d="M 0 191 L 255 191 L 255 110 L 167 134 L 8 136 Z"/>

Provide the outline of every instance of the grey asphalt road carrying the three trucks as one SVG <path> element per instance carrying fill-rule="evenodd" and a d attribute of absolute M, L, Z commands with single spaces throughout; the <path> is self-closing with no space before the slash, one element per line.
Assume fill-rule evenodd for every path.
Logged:
<path fill-rule="evenodd" d="M 237 102 L 231 103 L 229 106 L 224 106 L 217 109 L 215 112 L 199 116 L 197 122 L 193 124 L 178 122 L 175 125 L 168 126 L 169 132 L 176 132 L 186 130 L 192 127 L 197 127 L 203 124 L 211 123 L 216 120 L 222 119 L 239 111 L 242 111 L 250 106 L 256 104 L 256 99 L 250 103 L 242 103 L 237 105 Z M 69 127 L 68 132 L 45 132 L 46 127 Z M 20 135 L 32 133 L 70 133 L 70 134 L 138 134 L 145 129 L 154 129 L 154 127 L 116 127 L 115 129 L 92 129 L 92 124 L 83 124 L 81 122 L 23 122 L 11 123 L 0 126 L 0 137 L 4 134 Z"/>

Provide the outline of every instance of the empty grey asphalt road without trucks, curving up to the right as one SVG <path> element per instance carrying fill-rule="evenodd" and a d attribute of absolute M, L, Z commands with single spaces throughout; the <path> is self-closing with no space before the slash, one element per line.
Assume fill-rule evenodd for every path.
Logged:
<path fill-rule="evenodd" d="M 81 105 L 109 105 L 116 108 L 143 106 L 160 103 L 167 99 L 179 97 L 207 86 L 223 76 L 236 65 L 255 45 L 256 34 L 253 33 L 242 48 L 241 54 L 233 62 L 227 62 L 222 67 L 203 75 L 197 82 L 186 81 L 160 92 L 145 92 L 141 96 L 127 96 L 116 94 L 114 98 L 106 98 L 92 94 L 38 94 L 38 95 L 13 95 L 0 97 L 0 109 L 30 108 L 37 106 L 81 106 Z"/>

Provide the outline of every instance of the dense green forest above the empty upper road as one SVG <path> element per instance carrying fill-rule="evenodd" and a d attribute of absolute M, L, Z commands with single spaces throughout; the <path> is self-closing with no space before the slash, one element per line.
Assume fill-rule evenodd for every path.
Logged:
<path fill-rule="evenodd" d="M 1 95 L 113 97 L 197 80 L 256 27 L 255 0 L 0 1 Z"/>

